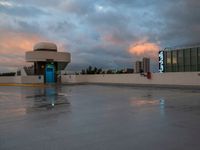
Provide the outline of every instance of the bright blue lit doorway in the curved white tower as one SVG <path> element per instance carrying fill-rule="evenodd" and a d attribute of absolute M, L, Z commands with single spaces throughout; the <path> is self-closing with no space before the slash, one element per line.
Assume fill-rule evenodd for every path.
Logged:
<path fill-rule="evenodd" d="M 54 83 L 55 82 L 55 68 L 53 64 L 47 64 L 45 68 L 46 74 L 46 83 Z"/>

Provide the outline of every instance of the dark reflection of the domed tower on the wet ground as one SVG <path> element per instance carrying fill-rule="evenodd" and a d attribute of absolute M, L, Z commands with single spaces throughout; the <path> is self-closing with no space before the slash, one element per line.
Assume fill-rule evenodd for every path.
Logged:
<path fill-rule="evenodd" d="M 36 89 L 35 95 L 27 96 L 27 98 L 33 99 L 32 108 L 35 109 L 53 109 L 54 107 L 69 105 L 67 94 L 63 94 L 59 91 L 59 88 L 56 86 Z"/>

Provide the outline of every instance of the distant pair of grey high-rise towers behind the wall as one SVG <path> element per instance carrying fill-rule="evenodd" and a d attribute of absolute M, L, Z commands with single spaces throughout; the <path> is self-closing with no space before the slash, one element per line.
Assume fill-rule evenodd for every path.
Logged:
<path fill-rule="evenodd" d="M 144 57 L 142 61 L 135 62 L 135 73 L 150 72 L 150 59 Z"/>

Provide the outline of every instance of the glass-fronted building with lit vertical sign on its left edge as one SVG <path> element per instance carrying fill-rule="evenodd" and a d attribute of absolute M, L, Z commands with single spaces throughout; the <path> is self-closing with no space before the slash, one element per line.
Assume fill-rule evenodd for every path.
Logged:
<path fill-rule="evenodd" d="M 161 50 L 159 52 L 159 71 L 200 71 L 200 46 Z"/>

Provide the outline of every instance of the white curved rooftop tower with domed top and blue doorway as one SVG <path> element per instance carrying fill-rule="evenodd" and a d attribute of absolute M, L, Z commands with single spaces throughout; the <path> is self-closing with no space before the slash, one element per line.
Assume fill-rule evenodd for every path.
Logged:
<path fill-rule="evenodd" d="M 61 70 L 71 61 L 70 53 L 58 52 L 54 43 L 40 42 L 26 52 L 26 61 L 34 63 L 34 74 L 44 75 L 46 83 L 56 82 Z"/>

